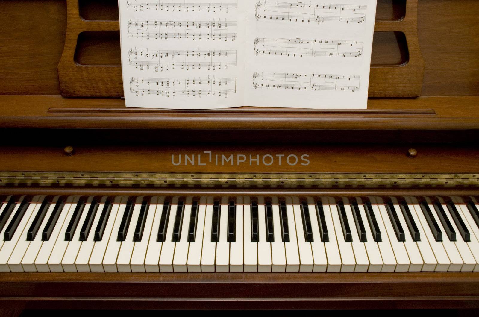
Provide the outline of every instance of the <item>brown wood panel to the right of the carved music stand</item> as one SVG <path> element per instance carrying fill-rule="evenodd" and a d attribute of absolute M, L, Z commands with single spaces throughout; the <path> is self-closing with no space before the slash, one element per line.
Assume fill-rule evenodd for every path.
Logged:
<path fill-rule="evenodd" d="M 479 95 L 479 1 L 421 0 L 423 96 Z"/>

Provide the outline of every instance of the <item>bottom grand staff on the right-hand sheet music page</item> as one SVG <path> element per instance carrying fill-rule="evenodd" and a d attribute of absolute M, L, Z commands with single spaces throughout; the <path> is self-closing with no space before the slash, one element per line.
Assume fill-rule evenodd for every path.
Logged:
<path fill-rule="evenodd" d="M 291 90 L 359 91 L 359 75 L 295 74 L 286 72 L 256 72 L 253 87 Z"/>

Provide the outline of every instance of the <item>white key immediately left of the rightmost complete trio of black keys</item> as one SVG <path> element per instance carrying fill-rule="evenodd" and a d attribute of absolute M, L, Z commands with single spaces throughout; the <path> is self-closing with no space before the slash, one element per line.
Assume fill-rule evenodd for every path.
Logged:
<path fill-rule="evenodd" d="M 443 243 L 441 241 L 436 241 L 436 239 L 434 238 L 433 233 L 431 232 L 431 228 L 429 227 L 429 224 L 427 223 L 426 218 L 422 213 L 421 206 L 418 204 L 413 204 L 412 206 L 414 210 L 410 208 L 411 214 L 421 234 L 421 244 L 418 243 L 421 254 L 423 254 L 423 252 L 429 252 L 429 250 L 426 250 L 425 246 L 422 246 L 423 244 L 425 244 L 425 242 L 427 242 L 429 244 L 429 247 L 431 248 L 431 252 L 433 253 L 434 258 L 437 261 L 437 265 L 434 271 L 447 272 L 447 270 L 449 269 L 449 265 L 451 265 L 451 261 L 447 256 Z M 430 255 L 428 255 L 428 257 L 429 256 Z"/>

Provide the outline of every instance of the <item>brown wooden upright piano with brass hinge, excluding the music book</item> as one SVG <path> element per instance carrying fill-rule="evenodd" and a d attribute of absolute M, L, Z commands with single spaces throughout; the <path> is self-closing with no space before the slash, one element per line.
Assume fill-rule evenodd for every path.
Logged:
<path fill-rule="evenodd" d="M 116 1 L 0 13 L 2 313 L 479 307 L 478 1 L 378 0 L 367 110 L 126 108 Z"/>

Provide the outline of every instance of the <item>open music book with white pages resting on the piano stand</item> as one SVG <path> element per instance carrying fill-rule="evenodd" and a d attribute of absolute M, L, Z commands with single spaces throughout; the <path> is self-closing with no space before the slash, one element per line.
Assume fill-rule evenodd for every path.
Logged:
<path fill-rule="evenodd" d="M 119 0 L 128 107 L 365 109 L 376 0 Z"/>

